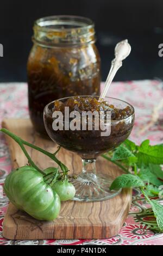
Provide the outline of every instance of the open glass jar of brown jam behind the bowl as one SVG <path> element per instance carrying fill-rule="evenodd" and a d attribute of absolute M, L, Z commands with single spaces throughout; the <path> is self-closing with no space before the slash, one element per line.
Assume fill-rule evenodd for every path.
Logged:
<path fill-rule="evenodd" d="M 66 96 L 99 95 L 100 57 L 90 19 L 51 16 L 34 24 L 27 63 L 29 113 L 35 130 L 45 133 L 43 108 Z"/>

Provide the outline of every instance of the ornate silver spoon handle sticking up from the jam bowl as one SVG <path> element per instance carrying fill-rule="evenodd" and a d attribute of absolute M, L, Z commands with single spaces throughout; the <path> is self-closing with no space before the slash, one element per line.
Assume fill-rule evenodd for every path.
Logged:
<path fill-rule="evenodd" d="M 105 86 L 102 90 L 102 93 L 99 97 L 99 99 L 104 99 L 106 96 L 106 93 L 108 92 L 108 89 L 110 87 L 110 84 L 115 77 L 115 74 L 119 68 L 122 66 L 122 60 L 126 59 L 127 56 L 129 56 L 131 51 L 131 46 L 128 43 L 128 40 L 123 40 L 121 42 L 118 42 L 118 44 L 115 47 L 115 59 L 111 62 L 111 68 L 108 74 L 108 77 L 105 82 Z"/>

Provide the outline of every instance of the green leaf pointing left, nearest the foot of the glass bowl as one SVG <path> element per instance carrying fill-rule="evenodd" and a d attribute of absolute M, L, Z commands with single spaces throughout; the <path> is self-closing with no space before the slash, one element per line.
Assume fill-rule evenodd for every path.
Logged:
<path fill-rule="evenodd" d="M 122 174 L 118 176 L 111 184 L 110 190 L 117 190 L 121 187 L 143 187 L 143 181 L 133 174 Z"/>

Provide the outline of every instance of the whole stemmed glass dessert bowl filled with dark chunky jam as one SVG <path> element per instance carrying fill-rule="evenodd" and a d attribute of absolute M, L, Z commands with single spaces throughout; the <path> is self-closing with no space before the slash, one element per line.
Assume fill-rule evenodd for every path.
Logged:
<path fill-rule="evenodd" d="M 68 112 L 65 111 L 67 107 Z M 85 113 L 89 111 L 91 113 L 96 111 L 96 114 L 103 113 L 99 120 L 104 120 L 105 127 L 110 128 L 108 133 L 102 133 L 104 130 L 100 122 L 96 122 L 98 115 L 92 119 L 90 116 L 86 117 L 83 122 Z M 71 126 L 74 120 L 76 121 Z M 89 130 L 90 120 L 92 126 Z M 105 122 L 105 120 L 109 121 Z M 56 124 L 60 121 L 61 125 L 57 127 Z M 109 187 L 114 180 L 112 176 L 102 169 L 96 172 L 96 158 L 106 151 L 115 149 L 128 138 L 134 125 L 133 106 L 111 97 L 105 97 L 104 100 L 99 100 L 99 96 L 65 97 L 48 103 L 44 109 L 44 123 L 49 137 L 54 142 L 82 157 L 82 173 L 77 179 L 72 180 L 76 188 L 74 200 L 101 201 L 115 197 L 121 192 L 121 190 L 110 191 Z M 74 126 L 78 129 L 74 129 Z"/>

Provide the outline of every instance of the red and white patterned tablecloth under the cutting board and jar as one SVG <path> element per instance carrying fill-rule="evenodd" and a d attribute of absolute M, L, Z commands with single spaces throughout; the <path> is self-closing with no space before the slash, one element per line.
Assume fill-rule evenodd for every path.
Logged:
<path fill-rule="evenodd" d="M 103 86 L 103 84 L 102 84 Z M 136 143 L 150 139 L 151 144 L 163 142 L 163 126 L 160 121 L 140 136 L 140 129 L 151 119 L 154 106 L 163 97 L 163 85 L 160 81 L 115 82 L 109 92 L 110 96 L 126 100 L 135 108 L 135 126 L 130 138 Z M 27 84 L 0 84 L 0 121 L 3 118 L 27 118 Z M 0 184 L 11 170 L 11 162 L 4 135 L 0 135 Z M 133 191 L 133 200 L 129 215 L 120 234 L 101 240 L 7 240 L 2 237 L 2 223 L 8 207 L 8 198 L 0 191 L 0 245 L 163 245 L 163 234 L 154 230 L 155 218 L 150 205 L 139 190 Z"/>

